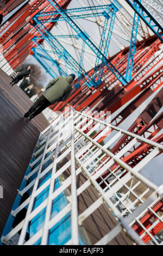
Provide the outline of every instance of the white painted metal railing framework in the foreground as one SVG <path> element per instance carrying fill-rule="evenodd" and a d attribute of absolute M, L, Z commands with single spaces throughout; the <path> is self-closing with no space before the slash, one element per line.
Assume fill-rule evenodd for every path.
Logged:
<path fill-rule="evenodd" d="M 102 126 L 103 129 L 101 128 Z M 87 127 L 90 130 L 84 133 Z M 92 132 L 96 131 L 98 131 L 98 135 L 92 138 Z M 116 134 L 112 136 L 111 132 L 108 133 L 107 142 L 104 145 L 99 144 L 98 140 L 109 131 L 114 131 Z M 112 154 L 110 147 L 123 135 L 127 135 L 130 138 L 130 142 L 118 151 L 117 154 Z M 48 245 L 49 230 L 68 212 L 71 212 L 71 220 L 73 220 L 71 222 L 71 239 L 67 241 L 66 245 L 78 245 L 78 225 L 84 225 L 86 218 L 89 218 L 93 212 L 105 203 L 108 205 L 108 211 L 114 214 L 113 218 L 116 218 L 119 223 L 110 232 L 108 230 L 108 234 L 97 241 L 96 245 L 108 244 L 122 230 L 126 231 L 134 244 L 144 245 L 142 241 L 143 237 L 148 234 L 151 237 L 151 241 L 155 245 L 159 245 L 150 231 L 159 222 L 163 221 L 163 216 L 153 210 L 153 206 L 163 197 L 163 187 L 156 186 L 152 181 L 149 181 L 145 176 L 140 174 L 139 170 L 162 152 L 163 145 L 149 141 L 144 137 L 120 129 L 105 121 L 75 111 L 73 108 L 67 108 L 60 117 L 55 119 L 40 134 L 40 141 L 37 144 L 39 149 L 35 152 L 36 159 L 31 164 L 33 170 L 25 177 L 26 180 L 29 180 L 29 184 L 22 191 L 18 192 L 23 196 L 25 192 L 32 189 L 32 193 L 17 209 L 11 212 L 12 216 L 16 217 L 18 212 L 26 207 L 26 217 L 8 235 L 1 238 L 3 243 L 7 243 L 12 236 L 21 230 L 18 245 L 33 245 L 39 239 L 41 239 L 41 245 Z M 133 146 L 139 147 L 140 144 L 151 147 L 149 154 L 143 157 L 134 167 L 123 162 L 123 156 L 129 154 Z M 47 153 L 49 153 L 48 156 Z M 43 164 L 49 159 L 52 159 L 52 164 L 42 170 Z M 67 160 L 66 163 L 60 168 L 57 168 L 58 164 L 64 159 Z M 40 161 L 39 166 L 34 168 L 35 163 L 38 161 Z M 116 164 L 116 167 L 112 168 L 114 164 Z M 71 175 L 61 182 L 61 186 L 57 190 L 54 190 L 55 180 L 60 178 L 60 175 L 64 176 L 67 168 L 71 169 Z M 38 186 L 40 179 L 50 170 L 52 170 L 51 177 L 44 184 Z M 85 174 L 87 180 L 77 188 L 76 178 L 81 172 Z M 105 172 L 108 172 L 108 175 L 103 178 Z M 35 173 L 37 173 L 36 178 L 30 181 L 30 178 Z M 101 178 L 100 182 L 97 180 L 99 178 Z M 104 188 L 102 188 L 103 184 L 105 184 Z M 95 187 L 99 198 L 79 215 L 77 210 L 78 196 L 87 190 L 90 185 Z M 34 199 L 47 186 L 49 186 L 48 197 L 34 209 Z M 139 186 L 144 188 L 141 194 L 136 190 Z M 52 201 L 70 187 L 71 195 L 67 198 L 67 205 L 57 215 L 51 217 Z M 119 196 L 120 191 L 122 192 L 121 197 Z M 130 196 L 134 199 L 129 199 L 131 198 Z M 136 204 L 137 206 L 135 206 Z M 25 241 L 29 222 L 45 208 L 46 217 L 43 227 L 35 235 L 30 237 L 29 240 Z M 151 211 L 157 219 L 149 228 L 146 228 L 141 223 L 141 218 L 147 211 Z M 135 223 L 139 223 L 144 230 L 144 233 L 140 237 L 132 228 Z"/>

